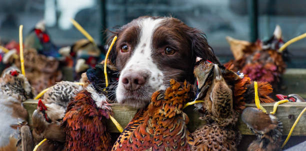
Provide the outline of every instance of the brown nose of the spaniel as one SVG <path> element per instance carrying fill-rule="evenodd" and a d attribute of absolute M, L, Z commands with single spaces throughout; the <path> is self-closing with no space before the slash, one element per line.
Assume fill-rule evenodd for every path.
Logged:
<path fill-rule="evenodd" d="M 122 77 L 122 84 L 126 90 L 137 90 L 145 83 L 145 77 L 138 73 L 127 73 Z"/>

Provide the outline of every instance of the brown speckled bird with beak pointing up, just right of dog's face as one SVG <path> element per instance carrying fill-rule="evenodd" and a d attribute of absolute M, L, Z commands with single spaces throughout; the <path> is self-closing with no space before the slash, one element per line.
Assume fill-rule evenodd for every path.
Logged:
<path fill-rule="evenodd" d="M 233 108 L 231 87 L 223 79 L 217 65 L 202 62 L 198 67 L 209 71 L 205 76 L 195 70 L 195 76 L 202 84 L 196 100 L 205 101 L 197 107 L 204 113 L 202 119 L 207 121 L 207 125 L 192 133 L 195 143 L 192 151 L 236 151 L 240 134 L 234 130 L 234 125 L 239 114 Z"/>

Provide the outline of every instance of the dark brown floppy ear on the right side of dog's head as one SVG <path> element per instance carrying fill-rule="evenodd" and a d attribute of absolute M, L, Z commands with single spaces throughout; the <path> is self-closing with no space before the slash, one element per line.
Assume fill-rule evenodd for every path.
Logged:
<path fill-rule="evenodd" d="M 196 57 L 209 60 L 213 63 L 220 64 L 214 55 L 213 49 L 208 45 L 205 34 L 193 28 L 191 39 L 192 61 L 195 63 Z"/>

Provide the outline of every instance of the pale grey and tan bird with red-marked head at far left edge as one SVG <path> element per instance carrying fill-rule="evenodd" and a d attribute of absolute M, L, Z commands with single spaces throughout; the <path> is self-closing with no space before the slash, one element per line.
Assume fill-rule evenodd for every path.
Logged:
<path fill-rule="evenodd" d="M 17 68 L 10 67 L 3 71 L 0 78 L 0 151 L 20 151 L 23 143 L 27 144 L 23 146 L 23 151 L 32 148 L 27 111 L 22 102 L 33 95 L 33 88 Z M 27 138 L 20 133 L 27 134 Z"/>

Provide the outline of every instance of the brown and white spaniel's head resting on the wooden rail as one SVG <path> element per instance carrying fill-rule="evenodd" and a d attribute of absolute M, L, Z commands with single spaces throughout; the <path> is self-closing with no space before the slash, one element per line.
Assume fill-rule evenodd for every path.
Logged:
<path fill-rule="evenodd" d="M 142 108 L 171 78 L 193 83 L 196 57 L 219 63 L 204 34 L 176 18 L 142 16 L 113 33 L 118 39 L 110 60 L 121 71 L 118 103 Z"/>

